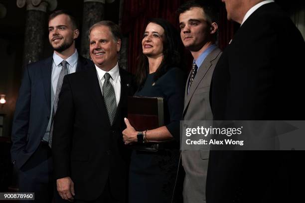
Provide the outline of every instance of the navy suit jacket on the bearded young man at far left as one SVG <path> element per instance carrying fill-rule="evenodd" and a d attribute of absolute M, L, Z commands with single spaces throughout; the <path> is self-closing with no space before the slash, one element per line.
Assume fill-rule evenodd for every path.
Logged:
<path fill-rule="evenodd" d="M 50 119 L 52 57 L 26 65 L 12 123 L 11 159 L 17 168 L 39 146 Z M 76 71 L 92 64 L 81 56 Z"/>

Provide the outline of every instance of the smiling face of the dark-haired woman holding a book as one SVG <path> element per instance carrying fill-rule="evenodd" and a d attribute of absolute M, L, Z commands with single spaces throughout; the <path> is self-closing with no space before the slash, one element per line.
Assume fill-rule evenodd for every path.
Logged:
<path fill-rule="evenodd" d="M 142 40 L 143 54 L 147 57 L 157 58 L 163 55 L 164 29 L 153 22 L 150 22 L 144 32 Z"/>

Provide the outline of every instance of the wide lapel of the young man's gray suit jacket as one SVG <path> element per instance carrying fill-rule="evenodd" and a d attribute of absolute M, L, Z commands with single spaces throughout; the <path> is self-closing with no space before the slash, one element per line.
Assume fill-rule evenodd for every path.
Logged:
<path fill-rule="evenodd" d="M 201 66 L 198 69 L 198 72 L 195 76 L 193 84 L 189 88 L 188 94 L 187 94 L 188 86 L 186 87 L 186 90 L 185 90 L 186 99 L 184 102 L 183 114 L 184 114 L 184 111 L 186 110 L 188 103 L 190 102 L 191 98 L 193 97 L 194 92 L 197 89 L 199 83 L 203 80 L 205 74 L 208 72 L 208 70 L 212 66 L 213 60 L 218 56 L 219 53 L 220 53 L 220 49 L 215 48 L 209 55 L 206 56 L 206 58 L 204 59 L 204 61 L 202 62 Z M 189 77 L 190 77 L 190 75 L 189 75 Z M 189 81 L 189 77 L 188 77 L 188 81 Z M 188 84 L 188 82 L 187 82 L 187 84 Z"/>

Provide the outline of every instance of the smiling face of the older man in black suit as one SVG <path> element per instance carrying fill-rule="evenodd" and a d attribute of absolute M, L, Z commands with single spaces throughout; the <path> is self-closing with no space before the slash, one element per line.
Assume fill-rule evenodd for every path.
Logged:
<path fill-rule="evenodd" d="M 115 40 L 108 26 L 98 25 L 90 32 L 90 57 L 94 64 L 109 71 L 118 62 L 121 40 Z"/>

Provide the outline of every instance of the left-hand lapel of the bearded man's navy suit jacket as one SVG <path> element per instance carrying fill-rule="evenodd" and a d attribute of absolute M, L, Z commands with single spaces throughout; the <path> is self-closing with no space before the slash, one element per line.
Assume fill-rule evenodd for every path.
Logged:
<path fill-rule="evenodd" d="M 53 61 L 53 58 L 49 57 L 44 61 L 44 64 L 40 67 L 45 100 L 47 102 L 47 105 L 48 105 L 48 108 L 49 108 L 50 111 L 51 111 L 52 61 Z"/>

